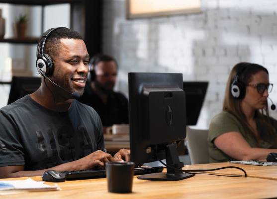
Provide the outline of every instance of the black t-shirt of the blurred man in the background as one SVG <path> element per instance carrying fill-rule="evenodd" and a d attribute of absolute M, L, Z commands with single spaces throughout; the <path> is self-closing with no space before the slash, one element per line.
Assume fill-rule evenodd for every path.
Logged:
<path fill-rule="evenodd" d="M 111 91 L 105 104 L 87 83 L 79 101 L 95 109 L 105 127 L 114 124 L 128 124 L 128 100 L 119 92 Z"/>

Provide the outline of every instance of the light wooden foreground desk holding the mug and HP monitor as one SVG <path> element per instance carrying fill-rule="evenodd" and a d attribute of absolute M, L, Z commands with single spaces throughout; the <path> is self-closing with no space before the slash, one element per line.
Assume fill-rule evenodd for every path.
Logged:
<path fill-rule="evenodd" d="M 16 178 L 17 180 L 19 178 Z M 26 179 L 26 178 L 21 178 Z M 41 181 L 41 177 L 32 177 Z M 14 180 L 14 179 L 13 179 Z M 52 185 L 53 183 L 47 183 Z M 5 199 L 261 199 L 277 198 L 277 181 L 196 175 L 181 181 L 146 181 L 134 177 L 133 193 L 107 192 L 106 179 L 66 181 L 58 183 L 61 191 L 16 192 L 2 195 Z M 1 196 L 2 195 L 2 196 Z"/>

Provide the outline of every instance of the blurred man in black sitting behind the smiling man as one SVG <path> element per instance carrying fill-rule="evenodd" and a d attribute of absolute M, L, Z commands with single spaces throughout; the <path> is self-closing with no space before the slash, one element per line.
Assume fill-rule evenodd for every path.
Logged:
<path fill-rule="evenodd" d="M 128 124 L 128 100 L 113 90 L 118 66 L 114 58 L 98 54 L 92 57 L 91 81 L 88 81 L 80 102 L 92 106 L 99 114 L 103 127 Z"/>

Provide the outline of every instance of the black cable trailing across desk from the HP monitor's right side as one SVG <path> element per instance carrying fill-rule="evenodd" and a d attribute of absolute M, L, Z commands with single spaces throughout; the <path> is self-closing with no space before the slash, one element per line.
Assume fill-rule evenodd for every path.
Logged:
<path fill-rule="evenodd" d="M 157 146 L 156 146 L 157 147 Z M 183 171 L 185 173 L 188 173 L 188 172 L 201 172 L 201 171 L 216 171 L 216 170 L 221 170 L 221 169 L 229 169 L 229 168 L 233 168 L 233 169 L 239 169 L 241 170 L 243 173 L 244 173 L 244 176 L 247 177 L 247 173 L 244 169 L 240 168 L 240 167 L 235 167 L 235 166 L 227 166 L 227 167 L 219 167 L 219 168 L 215 168 L 215 169 L 179 169 L 179 168 L 176 168 L 176 167 L 173 167 L 173 166 L 170 166 L 170 165 L 167 165 L 165 164 L 162 160 L 160 160 L 160 158 L 158 157 L 158 154 L 157 154 L 157 151 L 154 149 L 155 151 L 155 154 L 156 154 L 156 158 L 163 164 L 165 165 L 166 167 L 168 168 L 171 168 L 171 169 L 174 169 L 174 170 L 178 170 L 178 171 Z M 203 174 L 206 174 L 206 173 L 203 173 Z M 217 174 L 212 174 L 212 175 L 217 175 Z M 218 175 L 220 176 L 220 174 Z M 227 176 L 227 175 L 226 175 Z M 242 175 L 230 175 L 228 177 L 240 177 Z"/>

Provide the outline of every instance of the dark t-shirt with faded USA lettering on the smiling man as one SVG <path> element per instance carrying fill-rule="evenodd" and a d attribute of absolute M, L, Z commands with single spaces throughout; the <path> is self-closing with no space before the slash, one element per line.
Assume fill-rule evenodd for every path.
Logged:
<path fill-rule="evenodd" d="M 53 112 L 29 95 L 0 109 L 0 166 L 40 170 L 104 150 L 98 114 L 74 100 L 67 112 Z"/>

